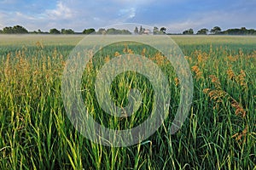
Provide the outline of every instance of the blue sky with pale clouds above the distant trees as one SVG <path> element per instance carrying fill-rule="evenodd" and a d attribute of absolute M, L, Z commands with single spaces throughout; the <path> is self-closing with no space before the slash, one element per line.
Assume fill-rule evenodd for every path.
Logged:
<path fill-rule="evenodd" d="M 169 32 L 220 26 L 256 29 L 256 0 L 0 0 L 0 29 L 106 27 L 119 23 L 165 26 Z"/>

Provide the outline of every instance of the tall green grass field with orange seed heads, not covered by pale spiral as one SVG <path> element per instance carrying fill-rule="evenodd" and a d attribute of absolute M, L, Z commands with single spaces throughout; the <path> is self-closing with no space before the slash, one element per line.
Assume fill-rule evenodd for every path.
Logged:
<path fill-rule="evenodd" d="M 121 120 L 102 111 L 94 82 L 112 56 L 143 54 L 168 77 L 168 117 L 152 136 L 128 147 L 93 143 L 67 117 L 61 76 L 68 54 L 81 39 L 0 36 L 0 169 L 256 168 L 256 37 L 172 37 L 183 50 L 194 81 L 189 116 L 175 134 L 167 129 L 177 111 L 180 87 L 165 57 L 136 44 L 96 54 L 86 66 L 81 90 L 88 111 L 105 127 L 135 127 L 154 109 L 150 82 L 127 71 L 112 83 L 113 101 L 125 105 L 128 89 L 137 88 L 143 105 Z"/>

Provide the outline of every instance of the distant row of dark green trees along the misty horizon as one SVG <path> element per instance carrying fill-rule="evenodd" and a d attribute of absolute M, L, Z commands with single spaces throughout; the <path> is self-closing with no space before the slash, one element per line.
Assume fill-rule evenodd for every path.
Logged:
<path fill-rule="evenodd" d="M 119 30 L 115 28 L 100 28 L 98 31 L 96 31 L 94 28 L 84 29 L 82 32 L 75 32 L 72 29 L 61 29 L 57 30 L 56 28 L 52 28 L 49 31 L 27 31 L 25 27 L 23 26 L 14 26 L 14 27 L 4 27 L 3 30 L 0 30 L 0 34 L 98 34 L 98 35 L 115 35 L 115 34 L 121 34 L 121 35 L 131 35 L 131 31 L 128 30 Z M 135 27 L 133 34 L 154 34 L 154 35 L 161 35 L 161 34 L 169 34 L 172 35 L 172 33 L 166 33 L 166 28 L 161 27 L 160 29 L 156 26 L 154 26 L 153 30 L 145 29 L 143 26 L 140 26 L 138 28 Z M 195 33 L 195 31 L 190 28 L 189 30 L 183 31 L 183 33 L 179 33 L 183 35 L 256 35 L 256 30 L 254 29 L 247 29 L 246 27 L 239 28 L 232 28 L 225 31 L 222 31 L 219 26 L 214 26 L 211 30 L 208 30 L 207 28 L 202 28 L 199 31 Z"/>

